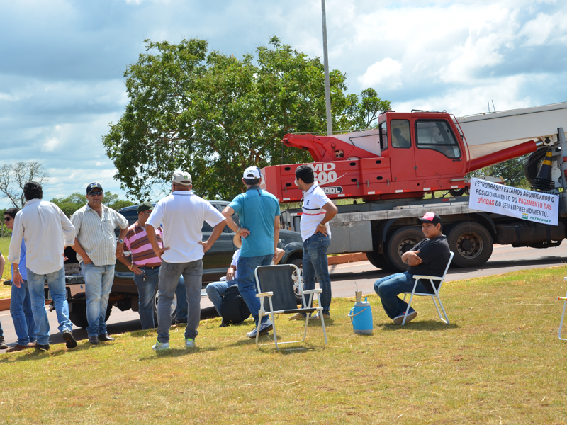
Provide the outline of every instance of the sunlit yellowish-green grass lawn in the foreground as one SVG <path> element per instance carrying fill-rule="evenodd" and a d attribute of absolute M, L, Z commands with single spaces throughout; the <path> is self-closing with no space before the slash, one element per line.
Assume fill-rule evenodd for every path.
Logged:
<path fill-rule="evenodd" d="M 201 322 L 198 348 L 155 353 L 155 330 L 112 343 L 0 355 L 0 423 L 566 424 L 567 341 L 557 329 L 567 267 L 447 283 L 406 325 L 375 295 L 374 334 L 356 335 L 352 299 L 332 302 L 329 344 L 310 324 L 301 351 L 257 349 L 249 323 Z M 354 293 L 354 288 L 353 288 Z M 301 323 L 276 319 L 281 339 Z"/>

